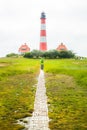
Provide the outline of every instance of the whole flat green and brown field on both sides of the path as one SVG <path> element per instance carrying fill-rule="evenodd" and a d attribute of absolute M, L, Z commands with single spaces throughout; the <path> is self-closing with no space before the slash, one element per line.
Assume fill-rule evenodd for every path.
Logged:
<path fill-rule="evenodd" d="M 21 130 L 34 109 L 40 61 L 0 59 L 0 130 Z M 87 130 L 87 60 L 45 60 L 50 130 Z"/>

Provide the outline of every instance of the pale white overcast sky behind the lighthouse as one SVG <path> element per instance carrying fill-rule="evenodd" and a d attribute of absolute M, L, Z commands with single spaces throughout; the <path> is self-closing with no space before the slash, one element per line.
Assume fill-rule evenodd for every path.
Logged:
<path fill-rule="evenodd" d="M 48 49 L 63 42 L 87 57 L 87 0 L 0 0 L 0 57 L 18 53 L 24 43 L 39 49 L 43 11 Z"/>

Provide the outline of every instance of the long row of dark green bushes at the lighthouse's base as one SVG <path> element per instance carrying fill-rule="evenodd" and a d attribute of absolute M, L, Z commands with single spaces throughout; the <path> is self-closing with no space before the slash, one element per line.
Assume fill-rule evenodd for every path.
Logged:
<path fill-rule="evenodd" d="M 31 52 L 25 53 L 24 57 L 25 58 L 44 57 L 46 59 L 57 59 L 57 58 L 74 58 L 75 54 L 72 51 L 57 51 L 57 50 L 39 51 L 39 50 L 33 50 Z"/>

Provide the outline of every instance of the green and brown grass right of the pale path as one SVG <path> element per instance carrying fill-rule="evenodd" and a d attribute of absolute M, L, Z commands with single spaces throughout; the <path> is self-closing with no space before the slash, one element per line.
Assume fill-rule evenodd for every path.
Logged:
<path fill-rule="evenodd" d="M 51 130 L 87 129 L 87 60 L 47 60 Z"/>

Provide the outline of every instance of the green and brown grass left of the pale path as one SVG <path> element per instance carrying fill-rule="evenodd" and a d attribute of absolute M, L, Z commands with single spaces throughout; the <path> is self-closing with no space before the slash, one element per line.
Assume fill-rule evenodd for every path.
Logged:
<path fill-rule="evenodd" d="M 17 119 L 31 116 L 38 60 L 0 59 L 0 130 L 19 130 Z"/>

